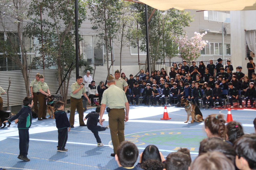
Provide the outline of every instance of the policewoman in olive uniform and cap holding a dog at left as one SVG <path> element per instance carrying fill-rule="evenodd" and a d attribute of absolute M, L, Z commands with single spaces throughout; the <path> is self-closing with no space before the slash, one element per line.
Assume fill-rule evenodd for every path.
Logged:
<path fill-rule="evenodd" d="M 47 119 L 46 118 L 46 97 L 47 96 L 51 96 L 50 91 L 49 91 L 49 87 L 47 85 L 47 83 L 44 82 L 45 78 L 44 76 L 41 74 L 40 75 L 40 81 L 37 84 L 37 88 L 38 88 L 38 95 L 37 95 L 37 99 L 38 99 L 38 103 L 39 103 L 39 109 L 38 109 L 38 119 L 37 120 L 42 120 L 42 119 Z"/>

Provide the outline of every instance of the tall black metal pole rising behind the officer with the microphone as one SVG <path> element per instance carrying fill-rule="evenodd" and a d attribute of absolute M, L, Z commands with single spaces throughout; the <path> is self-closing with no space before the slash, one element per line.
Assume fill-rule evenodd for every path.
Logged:
<path fill-rule="evenodd" d="M 78 0 L 75 0 L 75 32 L 76 32 L 76 78 L 79 76 L 79 43 L 78 43 Z"/>

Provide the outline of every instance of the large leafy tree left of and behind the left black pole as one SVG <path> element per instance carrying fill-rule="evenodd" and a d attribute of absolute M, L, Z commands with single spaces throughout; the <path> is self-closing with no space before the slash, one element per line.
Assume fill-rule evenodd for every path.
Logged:
<path fill-rule="evenodd" d="M 42 16 L 47 16 L 42 20 L 40 19 L 40 8 Z M 80 27 L 81 23 L 86 19 L 86 3 L 84 1 L 78 1 L 78 13 Z M 44 58 L 48 65 L 57 65 L 57 77 L 60 85 L 71 63 L 75 63 L 74 0 L 33 0 L 30 5 L 29 16 L 32 21 L 27 24 L 27 30 L 30 33 L 30 37 L 35 37 L 38 40 L 39 46 L 37 48 L 39 54 L 42 55 L 39 58 L 35 58 L 34 61 L 42 63 L 42 58 Z M 80 66 L 88 66 L 87 62 L 81 58 L 79 62 Z M 74 68 L 75 64 L 60 91 L 64 95 L 65 102 L 67 100 L 70 74 Z"/>

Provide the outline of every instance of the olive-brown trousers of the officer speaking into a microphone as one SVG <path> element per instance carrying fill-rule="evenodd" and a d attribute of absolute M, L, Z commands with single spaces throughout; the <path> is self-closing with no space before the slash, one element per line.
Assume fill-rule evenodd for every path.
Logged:
<path fill-rule="evenodd" d="M 74 119 L 75 119 L 75 111 L 77 109 L 79 115 L 79 124 L 84 125 L 83 121 L 83 103 L 82 98 L 77 99 L 74 97 L 70 97 L 70 116 L 69 116 L 69 123 L 71 126 L 74 126 Z"/>

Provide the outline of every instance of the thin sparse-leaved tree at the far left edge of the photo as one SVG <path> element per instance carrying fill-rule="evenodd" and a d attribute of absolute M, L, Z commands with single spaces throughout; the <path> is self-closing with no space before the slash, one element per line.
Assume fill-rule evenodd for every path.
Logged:
<path fill-rule="evenodd" d="M 0 51 L 22 72 L 27 96 L 29 96 L 28 55 L 26 47 L 26 25 L 28 1 L 0 0 L 0 25 L 4 34 L 0 35 Z"/>

